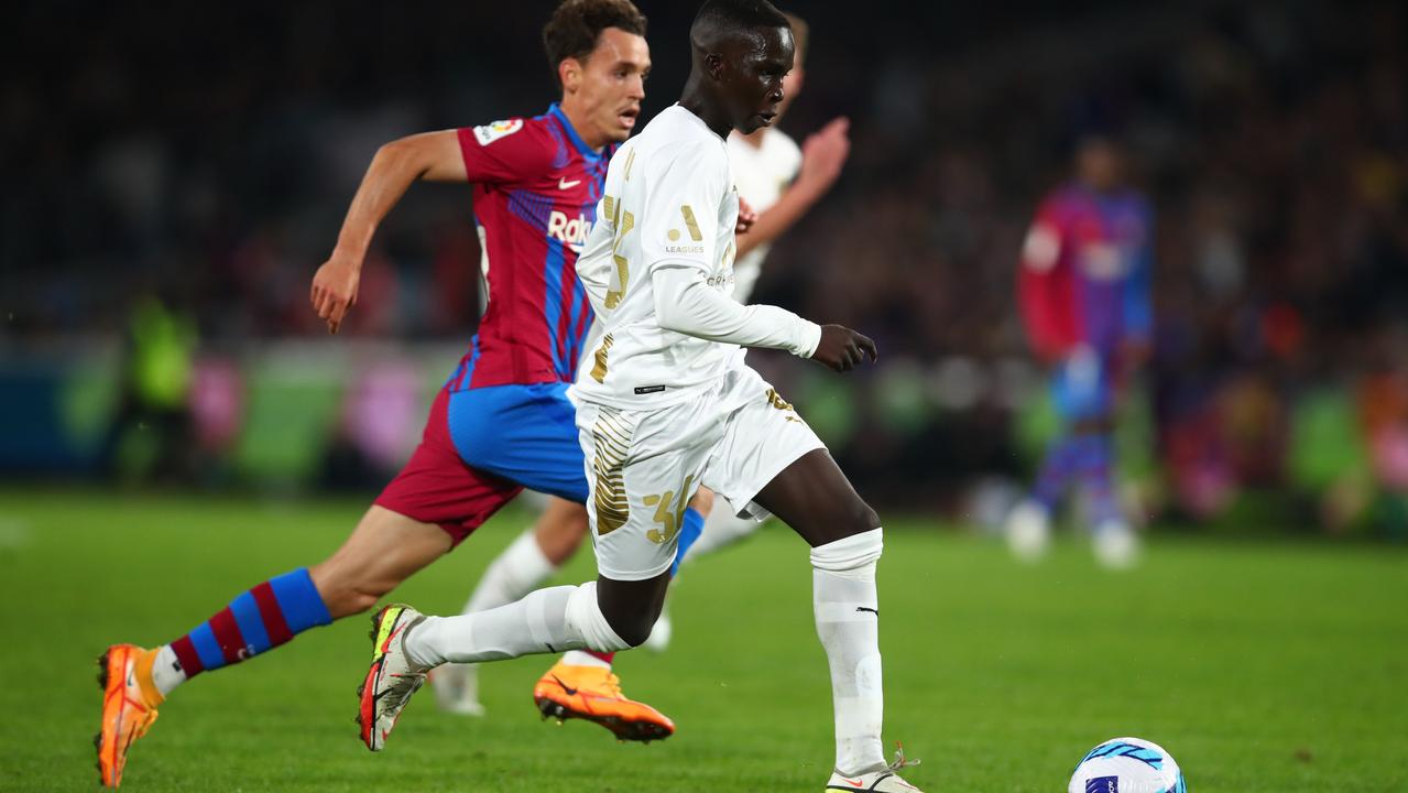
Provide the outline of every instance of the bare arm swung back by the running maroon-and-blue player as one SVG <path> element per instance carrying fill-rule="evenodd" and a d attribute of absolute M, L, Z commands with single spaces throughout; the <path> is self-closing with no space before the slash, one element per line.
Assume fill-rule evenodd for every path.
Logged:
<path fill-rule="evenodd" d="M 418 179 L 467 180 L 455 130 L 410 135 L 376 151 L 348 207 L 337 248 L 313 276 L 310 300 L 318 317 L 328 323 L 328 332 L 338 332 L 348 310 L 356 306 L 362 261 L 377 225 Z"/>

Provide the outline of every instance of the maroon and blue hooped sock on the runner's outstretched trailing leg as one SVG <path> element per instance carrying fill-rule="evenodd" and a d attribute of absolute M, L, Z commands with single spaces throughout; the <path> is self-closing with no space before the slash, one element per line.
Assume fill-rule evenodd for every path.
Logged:
<path fill-rule="evenodd" d="M 332 621 L 307 568 L 269 579 L 170 644 L 180 672 L 201 672 L 253 658 L 308 628 Z"/>

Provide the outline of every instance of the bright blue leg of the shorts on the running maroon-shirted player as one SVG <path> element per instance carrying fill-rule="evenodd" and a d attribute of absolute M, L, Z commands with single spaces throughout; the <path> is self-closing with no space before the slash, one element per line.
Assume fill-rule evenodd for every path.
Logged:
<path fill-rule="evenodd" d="M 449 394 L 449 435 L 466 463 L 562 499 L 587 500 L 567 383 L 489 386 Z"/>

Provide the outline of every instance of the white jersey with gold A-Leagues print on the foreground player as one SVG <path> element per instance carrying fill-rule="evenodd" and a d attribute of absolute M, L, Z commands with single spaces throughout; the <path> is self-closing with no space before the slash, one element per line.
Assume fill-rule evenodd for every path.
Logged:
<path fill-rule="evenodd" d="M 660 270 L 696 269 L 731 296 L 736 225 L 728 148 L 689 110 L 666 108 L 615 152 L 577 259 L 601 341 L 577 370 L 574 399 L 663 407 L 743 366 L 736 344 L 663 330 L 652 285 Z"/>

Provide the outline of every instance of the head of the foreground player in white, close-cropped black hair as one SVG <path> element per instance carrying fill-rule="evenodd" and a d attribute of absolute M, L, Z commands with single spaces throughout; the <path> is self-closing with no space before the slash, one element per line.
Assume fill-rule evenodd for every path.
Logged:
<path fill-rule="evenodd" d="M 793 31 L 767 0 L 708 0 L 690 25 L 691 83 L 727 113 L 732 127 L 753 132 L 781 110 L 783 77 L 793 68 Z"/>

